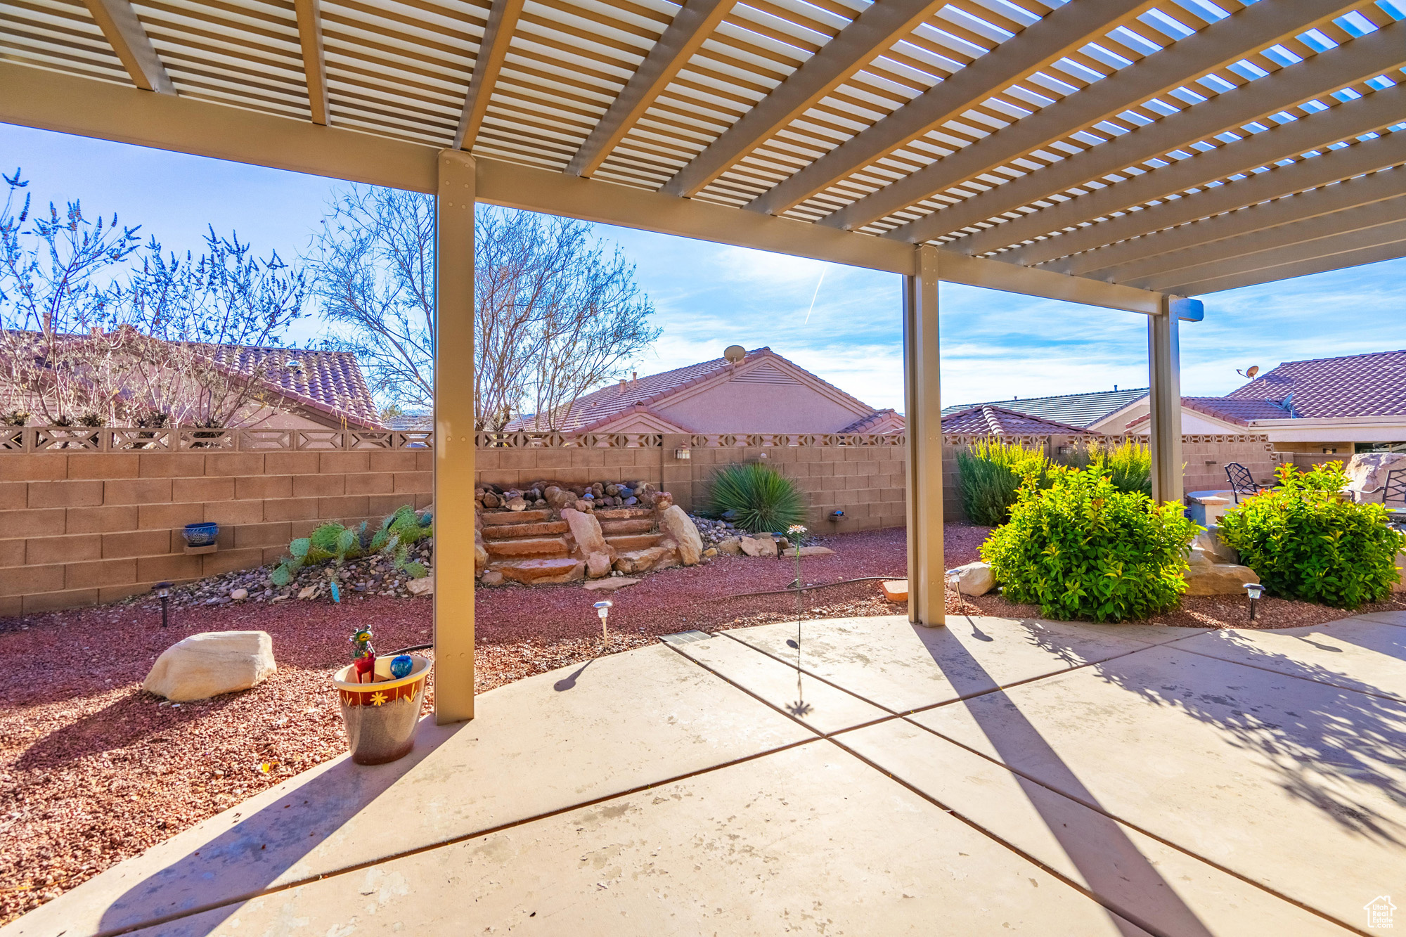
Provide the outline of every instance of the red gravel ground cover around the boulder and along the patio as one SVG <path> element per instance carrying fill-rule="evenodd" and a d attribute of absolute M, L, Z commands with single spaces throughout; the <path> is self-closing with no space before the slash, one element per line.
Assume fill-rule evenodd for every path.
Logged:
<path fill-rule="evenodd" d="M 948 525 L 946 563 L 977 559 L 986 528 Z M 832 556 L 806 557 L 807 584 L 901 578 L 901 529 L 831 536 Z M 717 557 L 650 574 L 614 594 L 579 585 L 481 589 L 477 595 L 478 691 L 654 642 L 796 613 L 785 589 L 794 560 Z M 609 595 L 612 637 L 600 640 L 592 605 Z M 904 613 L 873 580 L 806 595 L 807 618 Z M 1400 602 L 1372 606 L 1406 608 Z M 949 612 L 1038 616 L 987 595 Z M 1260 627 L 1315 625 L 1358 612 L 1265 599 Z M 1153 623 L 1246 627 L 1244 599 L 1189 598 Z M 329 692 L 347 663 L 347 636 L 370 623 L 382 651 L 430 640 L 430 601 L 357 598 L 232 604 L 180 609 L 160 627 L 155 604 L 98 606 L 0 619 L 0 923 L 141 853 L 284 777 L 344 751 Z M 141 689 L 156 656 L 184 635 L 260 629 L 273 636 L 278 673 L 253 689 L 173 705 Z M 433 685 L 426 708 L 433 699 Z"/>

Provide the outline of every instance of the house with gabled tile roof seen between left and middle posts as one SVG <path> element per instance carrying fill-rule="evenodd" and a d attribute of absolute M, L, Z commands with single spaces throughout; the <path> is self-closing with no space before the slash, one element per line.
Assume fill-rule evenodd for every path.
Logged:
<path fill-rule="evenodd" d="M 596 433 L 896 433 L 903 414 L 876 409 L 769 348 L 620 380 L 547 421 L 509 431 Z"/>

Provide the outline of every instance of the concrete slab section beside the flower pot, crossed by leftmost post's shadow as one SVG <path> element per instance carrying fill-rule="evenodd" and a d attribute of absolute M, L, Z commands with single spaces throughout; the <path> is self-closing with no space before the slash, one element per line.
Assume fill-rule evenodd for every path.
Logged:
<path fill-rule="evenodd" d="M 0 933 L 129 927 L 815 737 L 662 646 L 501 687 L 478 713 L 423 720 L 394 764 L 342 757 L 270 788 Z"/>

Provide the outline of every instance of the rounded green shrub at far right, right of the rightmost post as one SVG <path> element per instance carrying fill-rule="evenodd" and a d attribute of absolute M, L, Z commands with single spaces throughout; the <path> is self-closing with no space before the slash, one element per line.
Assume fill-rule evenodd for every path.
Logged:
<path fill-rule="evenodd" d="M 1386 508 L 1354 504 L 1341 461 L 1299 471 L 1279 466 L 1279 487 L 1246 498 L 1220 518 L 1220 539 L 1274 595 L 1334 608 L 1379 602 L 1396 581 L 1406 536 L 1386 526 Z"/>

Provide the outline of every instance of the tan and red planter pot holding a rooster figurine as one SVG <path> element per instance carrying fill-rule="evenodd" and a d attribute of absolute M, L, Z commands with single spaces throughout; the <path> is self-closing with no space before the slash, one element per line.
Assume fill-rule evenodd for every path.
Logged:
<path fill-rule="evenodd" d="M 430 661 L 419 654 L 409 657 L 413 667 L 399 680 L 384 680 L 391 675 L 391 657 L 375 658 L 375 675 L 382 678 L 380 682 L 350 682 L 354 677 L 352 664 L 332 677 L 342 703 L 352 761 L 387 764 L 405 757 L 415 747 L 415 726 L 420 720 Z"/>

